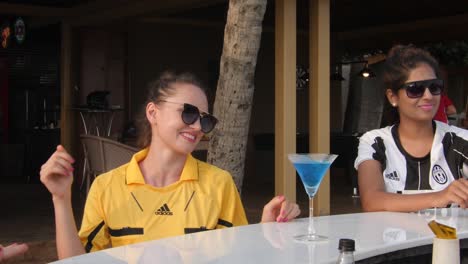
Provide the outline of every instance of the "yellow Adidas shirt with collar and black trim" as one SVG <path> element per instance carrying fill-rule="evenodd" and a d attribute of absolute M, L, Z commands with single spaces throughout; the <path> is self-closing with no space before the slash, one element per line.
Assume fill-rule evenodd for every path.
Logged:
<path fill-rule="evenodd" d="M 94 180 L 79 232 L 86 252 L 247 224 L 227 171 L 189 155 L 179 181 L 156 188 L 138 166 L 147 154 Z"/>

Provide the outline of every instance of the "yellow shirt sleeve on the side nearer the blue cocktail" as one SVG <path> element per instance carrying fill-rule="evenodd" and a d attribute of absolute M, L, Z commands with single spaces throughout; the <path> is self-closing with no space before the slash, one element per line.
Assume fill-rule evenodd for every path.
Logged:
<path fill-rule="evenodd" d="M 216 228 L 247 225 L 244 206 L 231 174 L 226 173 L 222 193 L 221 213 Z"/>

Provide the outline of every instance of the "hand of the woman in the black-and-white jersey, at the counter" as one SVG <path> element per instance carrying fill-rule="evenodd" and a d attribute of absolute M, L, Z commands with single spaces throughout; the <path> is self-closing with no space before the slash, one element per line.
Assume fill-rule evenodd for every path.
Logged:
<path fill-rule="evenodd" d="M 462 208 L 468 208 L 468 180 L 458 179 L 447 188 L 437 193 L 435 207 L 446 207 L 456 203 Z"/>

